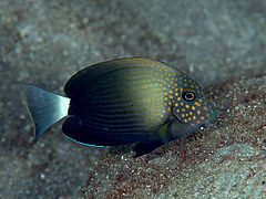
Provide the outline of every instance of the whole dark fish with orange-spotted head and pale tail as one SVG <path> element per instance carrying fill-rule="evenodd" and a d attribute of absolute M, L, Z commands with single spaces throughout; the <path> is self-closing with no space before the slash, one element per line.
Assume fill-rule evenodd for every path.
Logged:
<path fill-rule="evenodd" d="M 152 59 L 93 64 L 75 73 L 64 93 L 27 85 L 35 138 L 65 118 L 62 132 L 68 138 L 94 147 L 135 144 L 134 157 L 140 157 L 217 118 L 194 80 Z"/>

